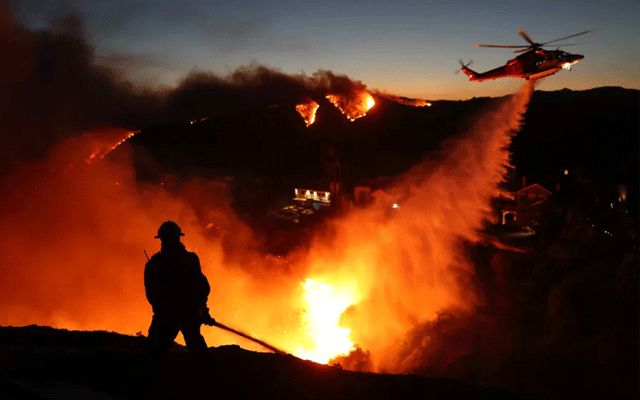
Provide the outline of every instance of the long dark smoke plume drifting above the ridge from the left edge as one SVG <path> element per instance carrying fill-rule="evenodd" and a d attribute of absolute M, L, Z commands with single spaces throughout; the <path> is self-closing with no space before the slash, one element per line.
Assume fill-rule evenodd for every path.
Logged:
<path fill-rule="evenodd" d="M 123 76 L 117 54 L 96 58 L 82 21 L 70 16 L 33 32 L 0 8 L 0 142 L 2 171 L 42 157 L 60 138 L 99 126 L 136 129 L 253 107 L 294 107 L 331 93 L 349 98 L 366 87 L 345 75 L 319 70 L 289 75 L 265 66 L 241 67 L 225 77 L 194 71 L 178 87 L 138 89 Z M 117 63 L 112 68 L 104 64 Z"/>

